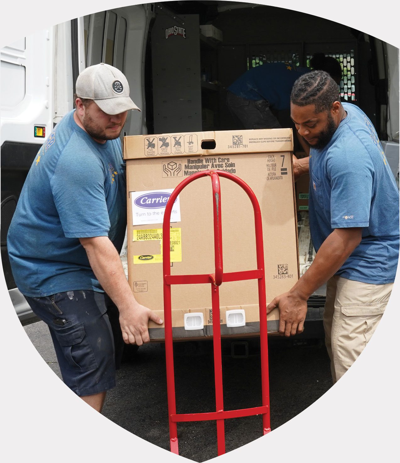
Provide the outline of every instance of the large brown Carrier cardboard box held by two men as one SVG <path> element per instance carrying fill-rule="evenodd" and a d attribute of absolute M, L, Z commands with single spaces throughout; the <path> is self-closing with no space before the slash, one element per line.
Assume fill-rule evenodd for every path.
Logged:
<path fill-rule="evenodd" d="M 128 275 L 137 301 L 162 311 L 161 239 L 165 204 L 184 178 L 206 169 L 231 172 L 256 194 L 262 211 L 267 303 L 290 289 L 299 278 L 292 150 L 291 129 L 125 137 Z M 220 177 L 220 184 L 224 272 L 256 269 L 250 199 L 236 183 Z M 215 272 L 212 184 L 208 176 L 190 183 L 175 202 L 170 255 L 172 275 Z M 173 285 L 174 338 L 212 335 L 211 290 L 211 284 Z M 222 325 L 226 324 L 227 310 L 243 310 L 245 317 L 244 326 L 221 326 L 223 336 L 256 335 L 259 332 L 257 281 L 222 283 L 219 295 Z M 203 329 L 183 335 L 179 328 L 184 326 L 185 313 L 203 313 Z M 269 314 L 269 332 L 277 331 L 278 319 L 277 310 Z M 153 325 L 149 325 L 150 338 L 162 339 L 163 326 Z"/>

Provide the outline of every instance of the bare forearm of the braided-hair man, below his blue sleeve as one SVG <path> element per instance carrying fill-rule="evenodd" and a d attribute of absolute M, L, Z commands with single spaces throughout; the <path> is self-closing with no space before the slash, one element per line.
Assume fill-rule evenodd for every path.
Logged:
<path fill-rule="evenodd" d="M 335 229 L 325 239 L 311 266 L 290 293 L 307 300 L 340 269 L 360 241 L 361 229 Z"/>

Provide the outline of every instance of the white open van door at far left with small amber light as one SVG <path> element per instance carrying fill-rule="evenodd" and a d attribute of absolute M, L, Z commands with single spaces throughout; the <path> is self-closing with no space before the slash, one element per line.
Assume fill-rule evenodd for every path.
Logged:
<path fill-rule="evenodd" d="M 7 232 L 28 170 L 53 128 L 54 31 L 39 31 L 1 49 L 1 261 L 21 320 L 32 313 L 15 287 Z"/>

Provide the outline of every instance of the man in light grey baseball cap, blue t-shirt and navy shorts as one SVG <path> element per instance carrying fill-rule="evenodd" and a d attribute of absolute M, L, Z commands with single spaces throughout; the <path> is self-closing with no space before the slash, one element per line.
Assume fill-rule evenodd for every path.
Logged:
<path fill-rule="evenodd" d="M 162 320 L 141 306 L 119 259 L 126 227 L 119 134 L 140 109 L 118 69 L 100 63 L 76 81 L 76 109 L 56 125 L 27 175 L 7 244 L 14 280 L 47 323 L 63 381 L 101 412 L 123 341 L 149 342 Z"/>

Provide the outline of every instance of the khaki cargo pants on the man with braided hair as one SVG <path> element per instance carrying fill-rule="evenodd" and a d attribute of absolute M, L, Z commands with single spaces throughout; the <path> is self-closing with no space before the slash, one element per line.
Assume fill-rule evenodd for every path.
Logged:
<path fill-rule="evenodd" d="M 393 283 L 374 285 L 338 275 L 326 283 L 325 344 L 335 383 L 351 367 L 374 334 Z"/>

